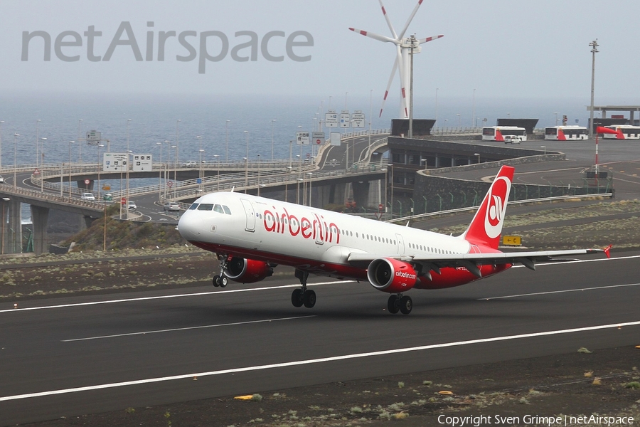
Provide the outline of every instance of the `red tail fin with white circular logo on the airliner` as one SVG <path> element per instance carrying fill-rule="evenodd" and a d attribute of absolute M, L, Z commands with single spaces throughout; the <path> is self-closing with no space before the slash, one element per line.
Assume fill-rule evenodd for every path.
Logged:
<path fill-rule="evenodd" d="M 511 166 L 500 168 L 469 228 L 462 235 L 469 243 L 498 248 L 514 170 Z"/>

